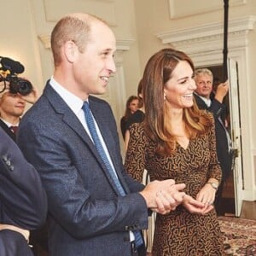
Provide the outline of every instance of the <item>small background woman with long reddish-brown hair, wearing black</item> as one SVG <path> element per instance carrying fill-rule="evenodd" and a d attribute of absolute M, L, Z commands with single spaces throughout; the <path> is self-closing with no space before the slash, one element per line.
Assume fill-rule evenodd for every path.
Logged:
<path fill-rule="evenodd" d="M 127 119 L 131 117 L 131 114 L 135 113 L 138 108 L 137 96 L 130 96 L 125 105 L 125 115 L 120 119 L 120 128 L 122 136 L 125 140 L 125 131 L 127 126 Z"/>

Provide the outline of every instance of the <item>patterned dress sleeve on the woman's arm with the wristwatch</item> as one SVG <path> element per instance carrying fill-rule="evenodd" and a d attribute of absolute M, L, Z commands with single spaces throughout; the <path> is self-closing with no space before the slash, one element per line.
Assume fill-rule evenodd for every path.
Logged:
<path fill-rule="evenodd" d="M 210 130 L 208 131 L 209 149 L 210 149 L 210 154 L 211 154 L 208 178 L 214 177 L 220 183 L 221 177 L 222 177 L 222 172 L 221 172 L 221 167 L 219 166 L 217 149 L 216 149 L 215 122 L 214 122 L 212 114 L 209 113 L 209 115 L 212 119 L 212 126 L 211 126 Z"/>

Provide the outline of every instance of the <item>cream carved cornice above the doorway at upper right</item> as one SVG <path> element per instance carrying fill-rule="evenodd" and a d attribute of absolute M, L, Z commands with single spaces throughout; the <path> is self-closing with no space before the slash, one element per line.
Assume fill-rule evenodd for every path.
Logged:
<path fill-rule="evenodd" d="M 229 48 L 246 47 L 247 33 L 253 30 L 256 16 L 247 16 L 229 21 Z M 223 49 L 224 24 L 222 22 L 194 26 L 178 31 L 160 32 L 156 34 L 162 44 L 172 44 L 188 54 Z"/>

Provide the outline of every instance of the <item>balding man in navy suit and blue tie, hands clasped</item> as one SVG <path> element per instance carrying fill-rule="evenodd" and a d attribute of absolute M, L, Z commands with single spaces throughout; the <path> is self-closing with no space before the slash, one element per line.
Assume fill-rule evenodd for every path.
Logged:
<path fill-rule="evenodd" d="M 165 214 L 183 200 L 184 184 L 166 180 L 144 188 L 125 173 L 112 110 L 90 96 L 107 90 L 116 70 L 115 44 L 111 29 L 95 16 L 73 14 L 58 21 L 51 34 L 54 75 L 20 122 L 18 144 L 38 168 L 48 195 L 53 256 L 145 255 L 134 241 L 137 230 L 148 228 L 148 208 Z M 84 102 L 90 104 L 98 137 L 125 195 L 119 195 L 92 141 Z"/>

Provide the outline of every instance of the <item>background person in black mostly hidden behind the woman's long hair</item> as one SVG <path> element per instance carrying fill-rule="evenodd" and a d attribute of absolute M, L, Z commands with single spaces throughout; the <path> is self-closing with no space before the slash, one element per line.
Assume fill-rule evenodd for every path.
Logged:
<path fill-rule="evenodd" d="M 137 86 L 137 98 L 138 98 L 138 109 L 135 113 L 131 114 L 130 118 L 127 119 L 126 122 L 126 131 L 125 131 L 125 151 L 127 150 L 129 139 L 130 139 L 130 127 L 134 123 L 141 123 L 143 122 L 145 111 L 144 111 L 144 102 L 143 102 L 143 83 L 142 79 L 140 80 Z"/>

